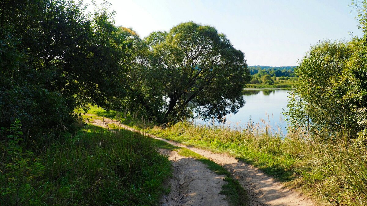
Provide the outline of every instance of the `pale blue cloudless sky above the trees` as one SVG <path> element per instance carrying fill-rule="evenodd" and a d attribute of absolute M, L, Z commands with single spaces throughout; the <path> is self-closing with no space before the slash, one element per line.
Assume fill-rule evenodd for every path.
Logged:
<path fill-rule="evenodd" d="M 319 41 L 361 36 L 350 0 L 109 2 L 110 9 L 116 11 L 116 26 L 131 27 L 142 38 L 187 21 L 214 26 L 244 52 L 248 65 L 297 66 L 310 46 Z"/>

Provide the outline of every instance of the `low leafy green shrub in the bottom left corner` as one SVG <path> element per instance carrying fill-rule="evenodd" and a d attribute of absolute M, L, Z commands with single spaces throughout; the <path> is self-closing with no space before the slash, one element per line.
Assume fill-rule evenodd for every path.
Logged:
<path fill-rule="evenodd" d="M 33 196 L 41 187 L 45 167 L 33 152 L 19 146 L 23 140 L 22 124 L 17 119 L 10 128 L 2 127 L 0 142 L 3 154 L 0 161 L 0 203 L 6 205 L 35 204 Z M 3 138 L 6 137 L 6 138 Z"/>

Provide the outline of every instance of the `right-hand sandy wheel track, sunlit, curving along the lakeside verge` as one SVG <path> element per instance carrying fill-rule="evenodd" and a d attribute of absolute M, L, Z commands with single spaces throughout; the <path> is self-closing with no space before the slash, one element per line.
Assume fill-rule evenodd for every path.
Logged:
<path fill-rule="evenodd" d="M 98 124 L 97 122 L 94 124 Z M 105 119 L 110 123 L 110 119 Z M 102 121 L 99 120 L 99 125 L 102 126 Z M 122 128 L 140 132 L 126 125 L 121 125 Z M 239 180 L 240 184 L 245 188 L 248 193 L 249 205 L 277 205 L 277 206 L 294 206 L 304 205 L 312 206 L 317 205 L 316 202 L 312 201 L 308 196 L 302 195 L 301 193 L 288 189 L 279 181 L 276 181 L 272 177 L 267 176 L 261 170 L 253 167 L 250 164 L 238 161 L 236 158 L 226 154 L 216 154 L 211 151 L 202 150 L 199 148 L 188 147 L 183 144 L 176 143 L 174 141 L 162 139 L 160 137 L 146 134 L 150 137 L 166 141 L 174 146 L 186 147 L 204 157 L 211 158 L 214 162 L 224 166 L 232 175 Z"/>

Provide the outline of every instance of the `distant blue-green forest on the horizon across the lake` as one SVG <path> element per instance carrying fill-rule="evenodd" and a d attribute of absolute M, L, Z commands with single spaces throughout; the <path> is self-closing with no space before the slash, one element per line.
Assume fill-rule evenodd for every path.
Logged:
<path fill-rule="evenodd" d="M 251 75 L 255 75 L 260 73 L 259 77 L 269 74 L 270 76 L 276 77 L 295 77 L 294 69 L 295 66 L 280 66 L 280 67 L 273 67 L 273 66 L 248 66 Z"/>

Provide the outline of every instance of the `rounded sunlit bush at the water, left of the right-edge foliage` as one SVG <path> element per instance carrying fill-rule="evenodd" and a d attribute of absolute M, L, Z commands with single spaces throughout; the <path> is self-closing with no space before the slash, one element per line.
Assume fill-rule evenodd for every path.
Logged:
<path fill-rule="evenodd" d="M 324 41 L 306 54 L 295 70 L 299 78 L 288 104 L 294 127 L 326 135 L 342 132 L 345 125 L 356 128 L 355 117 L 343 100 L 348 85 L 342 81 L 342 73 L 351 52 L 347 43 Z"/>

